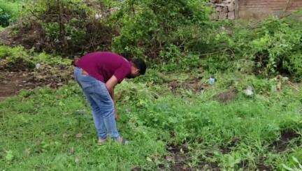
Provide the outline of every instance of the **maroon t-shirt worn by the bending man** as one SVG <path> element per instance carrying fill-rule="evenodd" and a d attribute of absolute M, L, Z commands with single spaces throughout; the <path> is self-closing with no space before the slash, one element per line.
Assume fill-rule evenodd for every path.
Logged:
<path fill-rule="evenodd" d="M 107 82 L 115 75 L 120 83 L 131 73 L 131 63 L 113 52 L 92 52 L 81 57 L 75 64 L 90 76 Z"/>

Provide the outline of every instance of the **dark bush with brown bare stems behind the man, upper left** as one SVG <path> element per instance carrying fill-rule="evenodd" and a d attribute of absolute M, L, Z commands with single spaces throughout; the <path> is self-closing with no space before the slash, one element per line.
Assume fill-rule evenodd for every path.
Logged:
<path fill-rule="evenodd" d="M 96 19 L 96 15 L 106 15 L 103 6 L 80 0 L 29 2 L 22 24 L 15 27 L 15 37 L 23 45 L 45 52 L 69 55 L 108 50 L 115 29 L 106 24 L 106 17 Z"/>

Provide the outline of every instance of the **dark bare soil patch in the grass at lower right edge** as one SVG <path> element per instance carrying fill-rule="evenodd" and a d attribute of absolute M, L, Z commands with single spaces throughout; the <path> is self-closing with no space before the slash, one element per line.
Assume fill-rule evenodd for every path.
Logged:
<path fill-rule="evenodd" d="M 271 149 L 278 151 L 278 152 L 285 151 L 287 149 L 287 145 L 289 144 L 289 142 L 300 136 L 301 135 L 299 135 L 298 133 L 296 133 L 296 131 L 294 131 L 292 129 L 282 130 L 280 138 L 278 140 L 275 140 L 270 145 L 270 147 L 271 147 Z"/>

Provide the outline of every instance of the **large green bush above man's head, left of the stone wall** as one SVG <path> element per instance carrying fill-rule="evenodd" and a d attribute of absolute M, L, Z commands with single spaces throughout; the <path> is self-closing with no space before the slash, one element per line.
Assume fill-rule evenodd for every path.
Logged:
<path fill-rule="evenodd" d="M 204 2 L 124 1 L 122 8 L 115 14 L 121 29 L 120 36 L 113 40 L 113 49 L 117 52 L 148 56 L 150 59 L 165 58 L 164 61 L 182 57 L 173 56 L 168 51 L 172 48 L 172 52 L 187 52 L 190 50 L 187 44 L 192 39 L 199 40 L 206 36 L 204 33 L 208 28 L 206 24 L 209 21 L 210 8 Z M 204 47 L 200 45 L 199 48 Z"/>

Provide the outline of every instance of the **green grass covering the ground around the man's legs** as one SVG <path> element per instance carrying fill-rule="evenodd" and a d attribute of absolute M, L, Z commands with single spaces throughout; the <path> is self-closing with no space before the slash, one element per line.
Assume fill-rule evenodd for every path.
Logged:
<path fill-rule="evenodd" d="M 123 82 L 117 89 L 118 127 L 132 141 L 126 146 L 96 145 L 89 107 L 75 83 L 59 90 L 22 91 L 1 102 L 0 168 L 156 170 L 159 164 L 173 165 L 164 159 L 168 144 L 185 142 L 190 156 L 186 163 L 192 167 L 216 163 L 225 170 L 238 170 L 244 163 L 249 170 L 259 164 L 283 170 L 282 163 L 295 167 L 292 157 L 301 162 L 301 136 L 291 140 L 285 151 L 271 147 L 282 131 L 301 135 L 301 92 L 286 84 L 281 92 L 269 91 L 273 80 L 232 73 L 217 74 L 217 83 L 199 94 L 185 89 L 172 94 L 166 83 L 152 83 L 161 78 L 150 73 L 149 81 Z M 187 74 L 166 77 L 186 82 Z M 202 82 L 208 75 L 204 76 Z M 253 85 L 254 96 L 243 94 L 247 85 Z M 236 99 L 227 104 L 215 101 L 229 87 L 238 89 Z M 76 137 L 78 133 L 82 137 Z M 234 138 L 238 140 L 232 145 Z M 229 151 L 222 152 L 227 147 Z"/>

